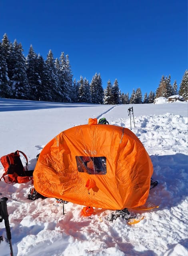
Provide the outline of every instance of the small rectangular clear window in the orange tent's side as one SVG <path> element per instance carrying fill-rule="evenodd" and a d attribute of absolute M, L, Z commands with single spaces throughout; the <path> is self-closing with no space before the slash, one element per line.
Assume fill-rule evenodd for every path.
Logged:
<path fill-rule="evenodd" d="M 76 156 L 78 172 L 87 172 L 88 174 L 104 175 L 106 174 L 106 157 Z"/>

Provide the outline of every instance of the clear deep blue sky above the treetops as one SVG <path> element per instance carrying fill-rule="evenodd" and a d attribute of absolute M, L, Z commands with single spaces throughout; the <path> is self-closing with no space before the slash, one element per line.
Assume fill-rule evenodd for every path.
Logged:
<path fill-rule="evenodd" d="M 188 68 L 187 0 L 0 0 L 0 40 L 32 44 L 44 59 L 69 55 L 73 78 L 122 92 L 156 91 L 162 75 L 178 89 Z"/>

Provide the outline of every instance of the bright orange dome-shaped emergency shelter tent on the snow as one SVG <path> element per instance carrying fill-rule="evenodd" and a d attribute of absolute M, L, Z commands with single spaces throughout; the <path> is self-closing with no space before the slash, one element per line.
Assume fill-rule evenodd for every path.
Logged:
<path fill-rule="evenodd" d="M 152 173 L 150 157 L 133 132 L 90 118 L 43 148 L 33 177 L 43 196 L 120 210 L 146 202 Z"/>

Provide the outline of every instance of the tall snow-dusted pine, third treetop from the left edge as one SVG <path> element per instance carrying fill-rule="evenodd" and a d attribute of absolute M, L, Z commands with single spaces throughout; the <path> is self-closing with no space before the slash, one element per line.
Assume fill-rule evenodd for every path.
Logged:
<path fill-rule="evenodd" d="M 26 59 L 22 54 L 22 44 L 14 40 L 12 48 L 12 94 L 14 99 L 28 99 L 30 86 L 26 75 Z"/>

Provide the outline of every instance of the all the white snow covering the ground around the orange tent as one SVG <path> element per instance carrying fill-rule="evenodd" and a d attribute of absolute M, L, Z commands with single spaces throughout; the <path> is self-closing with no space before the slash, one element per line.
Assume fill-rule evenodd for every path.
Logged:
<path fill-rule="evenodd" d="M 133 106 L 134 121 L 128 108 Z M 0 99 L 0 156 L 22 150 L 36 164 L 36 155 L 62 130 L 105 117 L 110 124 L 130 128 L 144 144 L 154 166 L 148 203 L 159 208 L 129 209 L 145 216 L 135 225 L 118 218 L 105 221 L 108 210 L 94 208 L 80 216 L 83 206 L 68 202 L 53 205 L 54 198 L 28 200 L 30 182 L 0 182 L 7 202 L 14 255 L 17 256 L 186 256 L 188 255 L 188 103 L 92 105 Z M 130 120 L 131 118 L 131 120 Z M 22 162 L 25 163 L 24 158 Z M 0 175 L 3 167 L 0 166 Z M 20 203 L 11 198 L 22 200 Z M 103 220 L 100 221 L 100 217 Z M 6 237 L 4 221 L 0 235 Z M 6 242 L 1 256 L 9 255 Z"/>

